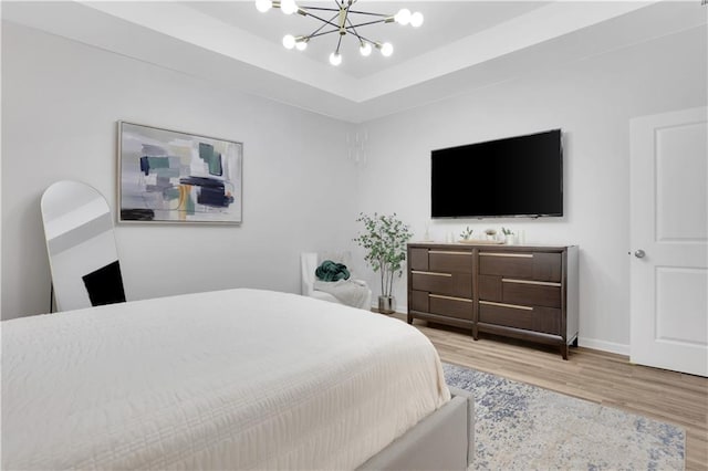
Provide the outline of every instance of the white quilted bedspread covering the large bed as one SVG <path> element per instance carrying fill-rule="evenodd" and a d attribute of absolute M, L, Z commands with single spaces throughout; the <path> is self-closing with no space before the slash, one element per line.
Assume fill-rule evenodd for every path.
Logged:
<path fill-rule="evenodd" d="M 417 329 L 292 294 L 2 322 L 3 469 L 353 469 L 449 397 Z"/>

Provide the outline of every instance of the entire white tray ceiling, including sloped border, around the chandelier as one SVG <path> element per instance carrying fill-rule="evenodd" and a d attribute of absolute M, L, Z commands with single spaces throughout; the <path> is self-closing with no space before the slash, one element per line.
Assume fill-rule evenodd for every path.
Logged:
<path fill-rule="evenodd" d="M 1 12 L 218 86 L 362 122 L 706 24 L 708 11 L 698 0 L 357 2 L 358 10 L 382 13 L 404 7 L 425 14 L 423 27 L 366 27 L 372 39 L 394 44 L 391 57 L 362 57 L 356 41 L 344 36 L 339 67 L 327 62 L 334 35 L 288 51 L 282 36 L 309 32 L 311 20 L 277 9 L 260 13 L 253 0 L 3 1 Z"/>

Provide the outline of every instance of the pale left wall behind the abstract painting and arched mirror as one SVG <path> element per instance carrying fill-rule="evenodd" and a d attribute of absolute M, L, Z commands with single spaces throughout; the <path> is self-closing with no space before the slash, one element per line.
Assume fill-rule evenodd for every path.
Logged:
<path fill-rule="evenodd" d="M 342 122 L 2 24 L 2 318 L 48 312 L 40 197 L 60 179 L 115 213 L 116 122 L 243 143 L 240 227 L 118 226 L 126 294 L 233 286 L 300 290 L 302 250 L 348 247 L 355 180 Z"/>

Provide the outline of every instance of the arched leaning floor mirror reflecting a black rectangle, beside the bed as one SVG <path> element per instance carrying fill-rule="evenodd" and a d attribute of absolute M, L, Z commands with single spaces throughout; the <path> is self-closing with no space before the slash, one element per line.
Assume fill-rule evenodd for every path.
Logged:
<path fill-rule="evenodd" d="M 42 195 L 42 220 L 56 311 L 125 301 L 105 198 L 79 181 L 58 181 Z"/>

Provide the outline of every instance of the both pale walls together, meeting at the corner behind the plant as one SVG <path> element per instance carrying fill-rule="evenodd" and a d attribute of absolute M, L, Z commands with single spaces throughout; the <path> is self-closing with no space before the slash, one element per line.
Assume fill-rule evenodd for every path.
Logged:
<path fill-rule="evenodd" d="M 296 292 L 301 250 L 353 248 L 358 211 L 396 211 L 418 238 L 427 223 L 438 240 L 466 226 L 508 226 L 529 243 L 579 244 L 581 344 L 626 353 L 628 121 L 706 105 L 706 70 L 701 28 L 531 71 L 358 126 L 366 161 L 354 167 L 351 125 L 3 24 L 2 318 L 49 306 L 44 188 L 84 180 L 115 209 L 115 122 L 126 119 L 244 143 L 241 227 L 117 227 L 131 299 L 229 286 Z M 565 133 L 565 217 L 430 222 L 431 149 L 555 127 Z M 367 278 L 378 294 L 377 278 Z M 405 286 L 397 281 L 399 310 Z"/>

